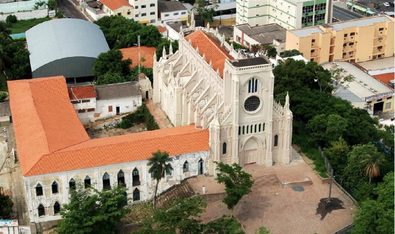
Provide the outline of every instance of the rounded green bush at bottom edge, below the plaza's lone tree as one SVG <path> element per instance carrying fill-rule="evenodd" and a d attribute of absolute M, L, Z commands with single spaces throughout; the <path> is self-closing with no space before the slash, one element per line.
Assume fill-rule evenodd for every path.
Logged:
<path fill-rule="evenodd" d="M 244 231 L 234 217 L 222 216 L 206 224 L 203 233 L 244 234 Z"/>

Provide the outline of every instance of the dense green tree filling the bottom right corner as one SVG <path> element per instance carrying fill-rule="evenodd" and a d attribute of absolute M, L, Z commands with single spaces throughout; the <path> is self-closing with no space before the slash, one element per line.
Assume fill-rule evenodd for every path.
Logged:
<path fill-rule="evenodd" d="M 352 234 L 394 233 L 394 173 L 388 173 L 374 189 L 377 200 L 362 202 L 355 212 Z"/>

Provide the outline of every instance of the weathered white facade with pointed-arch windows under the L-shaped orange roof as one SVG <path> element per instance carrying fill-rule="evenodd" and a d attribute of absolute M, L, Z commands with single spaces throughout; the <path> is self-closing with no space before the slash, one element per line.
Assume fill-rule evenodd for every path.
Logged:
<path fill-rule="evenodd" d="M 170 188 L 171 186 L 179 183 L 181 180 L 198 174 L 198 161 L 204 161 L 204 173 L 208 171 L 208 160 L 210 158 L 209 151 L 200 151 L 193 153 L 186 153 L 175 155 L 172 157 L 174 160 L 172 166 L 174 168 L 172 175 L 166 175 L 161 180 L 158 186 L 158 194 Z M 182 166 L 187 160 L 190 164 L 189 172 L 183 172 Z M 151 178 L 148 173 L 147 160 L 126 162 L 121 164 L 105 165 L 95 168 L 86 168 L 79 170 L 71 170 L 53 174 L 34 175 L 25 177 L 25 185 L 27 191 L 27 205 L 29 210 L 30 221 L 34 223 L 47 222 L 52 220 L 61 219 L 59 214 L 53 214 L 53 204 L 59 202 L 61 205 L 69 202 L 68 187 L 71 178 L 74 180 L 84 180 L 86 175 L 91 179 L 92 186 L 98 190 L 103 188 L 103 174 L 107 172 L 110 175 L 111 186 L 117 184 L 117 174 L 122 169 L 125 174 L 125 183 L 127 190 L 127 197 L 133 198 L 133 191 L 138 188 L 140 190 L 140 201 L 146 201 L 154 197 L 154 189 L 156 180 Z M 139 170 L 140 182 L 139 186 L 132 186 L 131 172 L 137 168 Z M 59 184 L 59 193 L 52 194 L 51 184 L 57 181 Z M 44 195 L 35 195 L 35 186 L 40 183 L 43 186 Z M 129 200 L 128 204 L 132 205 L 134 202 Z M 37 207 L 43 204 L 45 207 L 45 216 L 38 217 Z"/>

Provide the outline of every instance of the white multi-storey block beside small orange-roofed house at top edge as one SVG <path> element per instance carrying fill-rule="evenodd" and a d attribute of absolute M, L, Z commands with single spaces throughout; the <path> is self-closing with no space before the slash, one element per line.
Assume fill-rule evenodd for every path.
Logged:
<path fill-rule="evenodd" d="M 128 0 L 129 4 L 135 8 L 135 21 L 146 25 L 160 25 L 158 20 L 158 1 L 157 0 Z"/>

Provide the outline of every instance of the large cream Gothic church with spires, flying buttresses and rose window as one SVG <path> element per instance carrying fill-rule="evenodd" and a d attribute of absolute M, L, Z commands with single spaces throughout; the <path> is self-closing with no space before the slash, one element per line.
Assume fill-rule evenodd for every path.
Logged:
<path fill-rule="evenodd" d="M 174 126 L 210 129 L 209 173 L 214 174 L 213 161 L 267 166 L 290 162 L 289 97 L 285 106 L 274 102 L 273 85 L 267 58 L 241 59 L 209 27 L 187 36 L 181 30 L 179 50 L 164 52 L 154 64 L 153 101 L 161 103 Z"/>

